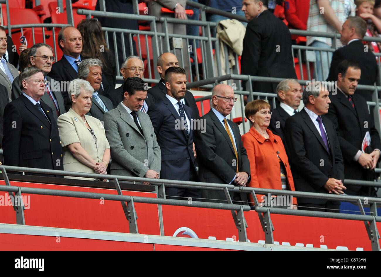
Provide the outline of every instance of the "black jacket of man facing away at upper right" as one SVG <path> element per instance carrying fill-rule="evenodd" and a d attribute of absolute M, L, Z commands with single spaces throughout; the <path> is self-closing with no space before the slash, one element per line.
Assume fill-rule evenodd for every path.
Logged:
<path fill-rule="evenodd" d="M 361 79 L 359 85 L 373 86 L 377 79 L 377 62 L 376 56 L 371 50 L 365 51 L 361 40 L 355 40 L 335 52 L 333 52 L 330 73 L 327 81 L 337 81 L 336 70 L 340 62 L 344 59 L 355 60 L 359 62 L 361 68 Z M 360 94 L 366 101 L 372 101 L 372 92 L 359 90 L 356 94 Z"/>

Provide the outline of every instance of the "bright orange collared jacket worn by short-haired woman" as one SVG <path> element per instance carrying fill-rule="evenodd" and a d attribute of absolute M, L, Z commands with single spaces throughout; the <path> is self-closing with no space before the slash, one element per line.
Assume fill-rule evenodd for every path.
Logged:
<path fill-rule="evenodd" d="M 267 129 L 267 133 L 269 134 L 268 140 L 261 136 L 254 127 L 251 127 L 248 133 L 242 136 L 243 147 L 246 148 L 250 161 L 251 181 L 248 186 L 261 189 L 282 189 L 278 154 L 285 165 L 288 189 L 295 191 L 294 179 L 282 139 L 269 129 Z M 261 196 L 257 194 L 259 203 L 262 201 Z M 293 197 L 293 204 L 297 205 L 296 197 Z"/>

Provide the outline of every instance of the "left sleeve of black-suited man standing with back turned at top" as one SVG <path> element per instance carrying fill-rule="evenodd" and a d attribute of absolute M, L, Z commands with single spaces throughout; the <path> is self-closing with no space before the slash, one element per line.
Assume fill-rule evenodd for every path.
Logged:
<path fill-rule="evenodd" d="M 258 24 L 250 22 L 246 29 L 245 36 L 247 39 L 243 41 L 242 56 L 242 74 L 256 76 L 258 71 L 258 62 L 261 55 L 262 37 L 260 34 L 262 27 Z"/>

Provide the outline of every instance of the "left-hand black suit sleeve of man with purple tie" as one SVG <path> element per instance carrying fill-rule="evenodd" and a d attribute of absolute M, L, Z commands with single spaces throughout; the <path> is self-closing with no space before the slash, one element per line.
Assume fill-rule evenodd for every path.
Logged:
<path fill-rule="evenodd" d="M 286 120 L 285 141 L 288 157 L 292 157 L 293 160 L 293 170 L 298 171 L 316 190 L 323 187 L 329 178 L 311 160 L 307 159 L 303 129 L 293 117 Z M 316 141 L 316 143 L 319 142 Z"/>

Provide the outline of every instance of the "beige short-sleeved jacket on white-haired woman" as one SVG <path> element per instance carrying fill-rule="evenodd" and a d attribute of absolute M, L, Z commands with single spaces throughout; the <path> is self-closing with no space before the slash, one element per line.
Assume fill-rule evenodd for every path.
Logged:
<path fill-rule="evenodd" d="M 75 172 L 85 172 L 85 173 L 95 173 L 93 168 L 84 165 L 79 162 L 70 152 L 69 144 L 80 143 L 83 149 L 94 159 L 95 162 L 102 162 L 103 154 L 105 149 L 110 149 L 109 142 L 106 139 L 106 134 L 104 132 L 104 127 L 102 123 L 95 117 L 90 115 L 85 115 L 86 121 L 90 128 L 94 130 L 95 136 L 97 138 L 98 150 L 95 146 L 94 138 L 90 131 L 83 123 L 80 115 L 78 115 L 73 109 L 65 114 L 62 114 L 57 119 L 57 125 L 59 130 L 59 136 L 62 141 L 62 152 L 64 153 L 64 170 L 65 171 L 75 171 Z M 79 177 L 68 177 L 71 179 L 89 179 L 89 178 L 79 178 Z"/>

